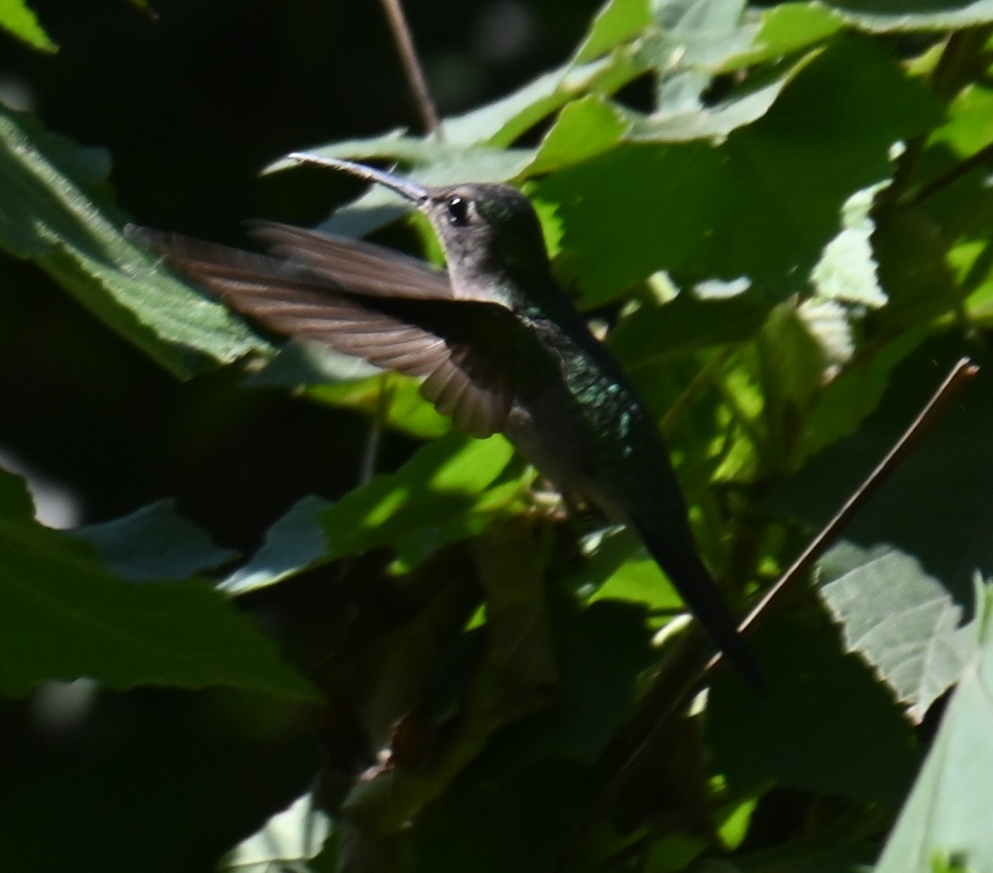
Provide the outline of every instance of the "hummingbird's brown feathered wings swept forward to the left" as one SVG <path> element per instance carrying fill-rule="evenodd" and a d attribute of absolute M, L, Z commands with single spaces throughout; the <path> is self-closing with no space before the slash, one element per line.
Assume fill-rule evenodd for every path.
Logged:
<path fill-rule="evenodd" d="M 305 232 L 296 239 L 310 254 L 304 258 L 287 232 L 277 243 L 289 256 L 283 260 L 133 225 L 127 233 L 233 309 L 279 333 L 424 377 L 424 397 L 475 437 L 504 429 L 522 383 L 533 384 L 541 369 L 533 337 L 509 310 L 455 301 L 444 273 L 369 243 Z M 312 237 L 321 246 L 317 255 Z M 340 272 L 330 266 L 337 263 L 335 252 L 344 253 Z M 308 262 L 321 258 L 319 272 Z M 371 272 L 376 263 L 378 277 Z M 390 277 L 393 296 L 387 297 L 382 275 L 390 276 L 397 263 L 400 279 Z"/>

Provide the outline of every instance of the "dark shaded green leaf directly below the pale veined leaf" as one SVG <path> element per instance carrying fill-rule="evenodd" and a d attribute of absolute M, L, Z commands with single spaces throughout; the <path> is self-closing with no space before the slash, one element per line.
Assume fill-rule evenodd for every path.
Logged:
<path fill-rule="evenodd" d="M 770 625 L 750 639 L 766 692 L 721 677 L 707 736 L 737 791 L 775 779 L 822 795 L 899 804 L 920 757 L 909 722 L 821 616 Z"/>

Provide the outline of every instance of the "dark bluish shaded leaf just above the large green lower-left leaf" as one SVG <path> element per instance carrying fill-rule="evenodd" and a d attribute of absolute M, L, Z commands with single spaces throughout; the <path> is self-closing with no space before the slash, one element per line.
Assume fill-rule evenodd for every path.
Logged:
<path fill-rule="evenodd" d="M 94 546 L 110 569 L 132 581 L 185 579 L 238 557 L 183 518 L 175 500 L 150 503 L 122 518 L 76 528 L 71 535 Z"/>

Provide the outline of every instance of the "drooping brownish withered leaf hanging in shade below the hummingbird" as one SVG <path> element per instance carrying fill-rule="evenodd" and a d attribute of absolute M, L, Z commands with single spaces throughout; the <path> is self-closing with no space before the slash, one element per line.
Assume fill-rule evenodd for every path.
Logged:
<path fill-rule="evenodd" d="M 392 635 L 388 651 L 380 655 L 389 668 L 388 681 L 380 683 L 375 698 L 365 707 L 380 716 L 373 740 L 387 728 L 395 737 L 404 727 L 397 726 L 398 717 L 410 712 L 414 713 L 415 729 L 418 718 L 423 720 L 428 711 L 441 709 L 441 718 L 445 718 L 456 702 L 459 718 L 449 729 L 442 728 L 445 742 L 425 760 L 411 762 L 404 754 L 402 737 L 399 743 L 394 742 L 400 746 L 398 760 L 374 775 L 368 774 L 351 792 L 346 801 L 350 820 L 377 833 L 402 828 L 416 811 L 451 787 L 498 728 L 557 702 L 557 671 L 541 584 L 546 568 L 543 551 L 527 519 L 491 529 L 483 543 L 476 544 L 475 563 L 487 595 L 486 652 L 472 674 L 463 679 L 465 687 L 459 689 L 457 699 L 440 703 L 435 699 L 434 706 L 414 708 L 425 690 L 433 690 L 435 698 L 439 696 L 436 664 L 443 654 L 438 651 L 439 643 L 452 645 L 453 611 L 458 619 L 457 610 L 463 610 L 460 625 L 464 626 L 465 585 L 454 580 L 445 598 L 451 606 L 440 603 L 436 596 L 415 621 Z M 466 651 L 461 647 L 463 660 Z M 402 705 L 397 705 L 398 700 Z"/>

